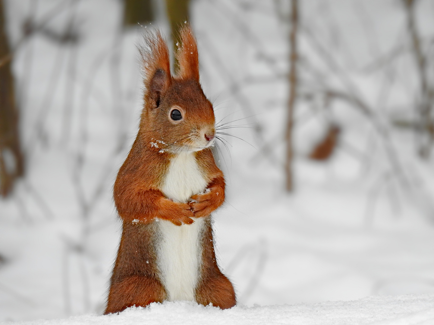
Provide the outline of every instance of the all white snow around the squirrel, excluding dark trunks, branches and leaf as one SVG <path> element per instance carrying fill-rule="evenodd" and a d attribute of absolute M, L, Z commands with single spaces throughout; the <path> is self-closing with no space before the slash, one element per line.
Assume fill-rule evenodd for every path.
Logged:
<path fill-rule="evenodd" d="M 19 39 L 30 1 L 8 3 L 11 31 Z M 36 17 L 56 4 L 38 3 Z M 38 34 L 14 61 L 24 95 L 21 118 L 28 165 L 12 198 L 0 201 L 0 321 L 434 322 L 432 159 L 418 159 L 411 133 L 391 131 L 399 162 L 413 184 L 413 191 L 406 191 L 391 172 L 385 143 L 361 114 L 342 103 L 327 112 L 301 103 L 296 114 L 296 192 L 286 195 L 281 140 L 286 83 L 253 82 L 255 76 L 266 79 L 270 65 L 273 71 L 286 71 L 284 28 L 270 9 L 273 1 L 254 2 L 259 7 L 253 10 L 248 2 L 229 0 L 195 1 L 192 21 L 201 81 L 217 120 L 234 121 L 230 125 L 257 122 L 262 130 L 231 129 L 259 149 L 227 137 L 229 152 L 222 144 L 217 150 L 227 179 L 227 201 L 214 214 L 217 257 L 240 305 L 221 311 L 165 302 L 96 316 L 104 309 L 120 235 L 112 185 L 137 132 L 141 107 L 135 48 L 140 32 L 116 33 L 118 1 L 71 3 L 78 7 L 62 12 L 48 26 L 63 30 L 76 10 L 83 35 L 79 50 Z M 354 7 L 337 0 L 302 3 L 306 20 L 315 23 L 312 28 L 322 41 L 332 38 L 335 58 L 344 62 L 369 103 L 378 100 L 387 114 L 390 107 L 408 105 L 411 91 L 400 82 L 411 83 L 410 77 L 397 77 L 388 88 L 381 76 L 354 72 L 357 65 L 370 63 L 370 50 L 387 52 L 393 41 L 403 39 L 403 16 L 395 2 L 355 1 Z M 433 7 L 430 1 L 420 3 L 418 12 L 426 16 L 421 26 L 433 35 Z M 376 38 L 366 38 L 358 13 L 364 13 L 365 23 L 374 22 Z M 242 32 L 240 22 L 258 39 Z M 164 29 L 164 20 L 160 23 Z M 330 30 L 344 35 L 329 35 Z M 272 58 L 258 54 L 258 46 Z M 306 39 L 303 47 L 306 53 L 312 51 Z M 352 54 L 345 56 L 345 49 Z M 411 75 L 411 62 L 399 67 L 396 75 Z M 339 87 L 339 81 L 330 82 Z M 378 95 L 383 88 L 387 94 Z M 381 120 L 387 120 L 386 113 Z M 329 118 L 343 127 L 342 145 L 328 162 L 311 162 L 306 153 Z M 264 146 L 269 147 L 267 155 Z M 402 296 L 406 294 L 413 296 Z"/>

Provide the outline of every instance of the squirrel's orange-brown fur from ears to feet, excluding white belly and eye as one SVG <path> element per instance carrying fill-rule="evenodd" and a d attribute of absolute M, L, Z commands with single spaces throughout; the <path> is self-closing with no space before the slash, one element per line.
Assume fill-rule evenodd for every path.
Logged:
<path fill-rule="evenodd" d="M 181 40 L 177 53 L 180 68 L 175 77 L 171 76 L 168 48 L 159 33 L 148 34 L 149 48 L 141 49 L 144 107 L 136 140 L 114 185 L 115 206 L 123 229 L 106 314 L 166 299 L 157 266 L 157 218 L 177 226 L 191 224 L 194 218 L 206 218 L 196 301 L 204 305 L 211 302 L 220 308 L 236 303 L 233 287 L 215 261 L 210 213 L 222 205 L 225 183 L 211 150 L 205 147 L 194 153 L 208 191 L 193 195 L 190 203 L 172 201 L 161 191 L 171 159 L 185 148 L 207 143 L 215 134 L 214 110 L 199 84 L 197 46 L 188 26 L 181 30 Z M 169 118 L 173 107 L 182 111 L 182 123 Z"/>

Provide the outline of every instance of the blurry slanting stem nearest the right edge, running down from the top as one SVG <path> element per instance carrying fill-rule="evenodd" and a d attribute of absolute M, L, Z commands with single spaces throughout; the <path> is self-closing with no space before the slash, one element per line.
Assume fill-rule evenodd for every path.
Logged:
<path fill-rule="evenodd" d="M 422 133 L 422 142 L 419 148 L 419 154 L 422 158 L 428 158 L 431 151 L 431 146 L 434 143 L 434 121 L 431 116 L 433 106 L 434 90 L 430 91 L 427 78 L 427 58 L 421 49 L 421 38 L 416 26 L 416 17 L 414 13 L 415 3 L 414 0 L 403 0 L 405 13 L 407 15 L 408 33 L 412 45 L 412 52 L 416 62 L 416 68 L 419 75 L 420 83 L 420 98 L 416 99 L 418 113 L 420 118 L 420 131 Z M 430 94 L 431 93 L 431 94 Z M 425 136 L 426 135 L 426 138 Z"/>

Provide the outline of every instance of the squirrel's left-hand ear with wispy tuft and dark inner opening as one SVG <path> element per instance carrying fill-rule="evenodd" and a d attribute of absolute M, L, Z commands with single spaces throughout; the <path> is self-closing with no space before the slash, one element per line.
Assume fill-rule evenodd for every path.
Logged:
<path fill-rule="evenodd" d="M 169 50 L 159 32 L 148 33 L 145 42 L 148 48 L 139 49 L 145 72 L 145 103 L 155 108 L 171 84 Z"/>

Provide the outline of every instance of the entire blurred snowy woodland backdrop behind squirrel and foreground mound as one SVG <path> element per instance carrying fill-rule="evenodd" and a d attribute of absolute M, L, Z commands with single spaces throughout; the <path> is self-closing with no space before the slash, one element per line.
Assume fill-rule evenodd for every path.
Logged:
<path fill-rule="evenodd" d="M 239 303 L 434 293 L 434 1 L 0 0 L 0 320 L 103 311 L 137 45 L 184 21 Z"/>

